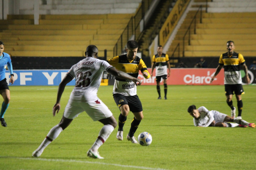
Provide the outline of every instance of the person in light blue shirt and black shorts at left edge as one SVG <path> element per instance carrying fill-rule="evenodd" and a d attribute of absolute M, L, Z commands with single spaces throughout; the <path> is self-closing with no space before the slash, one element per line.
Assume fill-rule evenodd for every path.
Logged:
<path fill-rule="evenodd" d="M 11 78 L 9 80 L 9 82 L 11 84 L 14 83 L 14 77 L 13 77 L 14 74 L 12 71 L 11 57 L 9 54 L 4 53 L 4 49 L 5 49 L 4 43 L 2 41 L 0 41 L 0 66 L 1 66 L 0 93 L 1 93 L 2 97 L 4 98 L 4 101 L 2 103 L 1 112 L 0 112 L 0 122 L 3 127 L 7 127 L 7 124 L 4 119 L 4 114 L 5 114 L 6 109 L 9 107 L 11 95 L 10 95 L 10 90 L 9 90 L 9 87 L 8 87 L 8 84 L 7 84 L 6 78 L 5 78 L 6 67 L 8 66 L 8 69 L 9 69 L 9 72 L 11 75 Z"/>

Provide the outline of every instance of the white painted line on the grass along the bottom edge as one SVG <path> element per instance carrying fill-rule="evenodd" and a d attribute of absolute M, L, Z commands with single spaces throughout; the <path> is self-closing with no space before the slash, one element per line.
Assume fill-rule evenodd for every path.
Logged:
<path fill-rule="evenodd" d="M 73 159 L 46 159 L 46 158 L 22 158 L 22 157 L 8 157 L 8 156 L 0 156 L 0 158 L 11 158 L 11 159 L 24 159 L 24 160 L 33 160 L 33 161 L 52 161 L 52 162 L 76 162 L 76 163 L 85 163 L 85 164 L 101 164 L 101 165 L 112 165 L 119 166 L 124 168 L 136 168 L 136 169 L 147 169 L 147 170 L 169 170 L 162 168 L 149 168 L 145 166 L 133 166 L 133 165 L 121 165 L 121 164 L 112 164 L 112 163 L 104 163 L 104 162 L 90 162 L 90 161 L 78 161 Z"/>

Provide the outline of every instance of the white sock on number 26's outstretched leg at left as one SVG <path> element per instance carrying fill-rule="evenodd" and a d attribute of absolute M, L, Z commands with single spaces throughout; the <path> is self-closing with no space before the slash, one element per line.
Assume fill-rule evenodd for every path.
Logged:
<path fill-rule="evenodd" d="M 55 127 L 53 127 L 48 135 L 46 136 L 46 138 L 44 139 L 44 141 L 41 143 L 41 145 L 37 148 L 37 151 L 42 153 L 44 151 L 44 149 L 53 141 L 55 140 L 60 132 L 62 132 L 62 128 L 57 124 Z M 50 139 L 50 140 L 49 140 Z M 52 141 L 51 141 L 52 140 Z"/>

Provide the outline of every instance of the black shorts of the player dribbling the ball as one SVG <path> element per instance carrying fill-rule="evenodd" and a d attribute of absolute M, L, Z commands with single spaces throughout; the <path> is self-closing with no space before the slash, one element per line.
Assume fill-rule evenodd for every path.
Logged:
<path fill-rule="evenodd" d="M 141 112 L 142 104 L 137 95 L 135 96 L 124 96 L 122 94 L 113 94 L 114 100 L 116 102 L 117 107 L 123 106 L 124 104 L 128 104 L 131 112 Z"/>

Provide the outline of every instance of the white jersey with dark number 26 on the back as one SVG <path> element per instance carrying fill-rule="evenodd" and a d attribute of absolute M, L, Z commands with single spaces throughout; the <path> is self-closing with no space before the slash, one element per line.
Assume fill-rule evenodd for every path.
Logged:
<path fill-rule="evenodd" d="M 110 67 L 112 66 L 108 62 L 93 57 L 86 57 L 73 65 L 67 73 L 76 80 L 76 85 L 70 94 L 70 100 L 97 100 L 102 72 L 107 71 Z"/>

